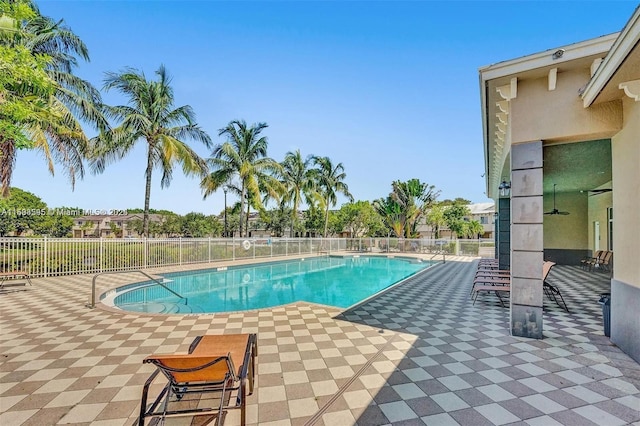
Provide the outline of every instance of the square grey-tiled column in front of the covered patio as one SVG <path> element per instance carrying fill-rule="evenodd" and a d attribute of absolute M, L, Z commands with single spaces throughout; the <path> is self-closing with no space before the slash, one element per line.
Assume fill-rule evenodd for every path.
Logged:
<path fill-rule="evenodd" d="M 542 339 L 542 142 L 511 146 L 511 334 Z"/>

